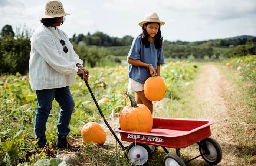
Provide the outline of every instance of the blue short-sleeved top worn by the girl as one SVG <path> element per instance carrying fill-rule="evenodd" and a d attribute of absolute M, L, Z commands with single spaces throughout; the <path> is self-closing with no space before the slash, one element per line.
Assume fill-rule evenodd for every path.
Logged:
<path fill-rule="evenodd" d="M 133 60 L 138 59 L 141 62 L 152 64 L 155 70 L 157 70 L 158 64 L 164 64 L 163 48 L 156 49 L 155 44 L 151 42 L 150 47 L 146 48 L 142 43 L 141 35 L 138 35 L 138 37 L 134 38 L 132 41 L 132 46 L 127 58 Z M 150 75 L 150 72 L 147 71 L 147 68 L 129 64 L 128 77 L 144 84 L 145 81 L 152 76 Z"/>

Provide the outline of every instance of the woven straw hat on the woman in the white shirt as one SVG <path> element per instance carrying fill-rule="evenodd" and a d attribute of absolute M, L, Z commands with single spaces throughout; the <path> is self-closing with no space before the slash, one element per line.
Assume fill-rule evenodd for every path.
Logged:
<path fill-rule="evenodd" d="M 70 15 L 71 13 L 65 13 L 62 3 L 59 0 L 48 1 L 45 4 L 45 14 L 39 16 L 39 18 L 55 18 Z"/>

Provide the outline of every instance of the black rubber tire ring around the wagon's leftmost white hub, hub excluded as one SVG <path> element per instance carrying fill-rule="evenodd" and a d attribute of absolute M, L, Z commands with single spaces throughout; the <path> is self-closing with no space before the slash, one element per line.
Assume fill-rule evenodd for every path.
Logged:
<path fill-rule="evenodd" d="M 129 156 L 129 151 L 130 151 L 131 149 L 133 149 L 133 148 L 136 148 L 136 146 L 139 147 L 139 148 L 143 147 L 143 148 L 147 151 L 147 153 L 148 153 L 148 159 L 147 159 L 147 161 L 143 161 L 142 163 L 137 162 L 137 161 L 135 161 L 135 162 L 132 162 L 132 161 L 131 161 L 130 156 Z M 151 152 L 150 148 L 148 147 L 148 145 L 145 145 L 145 144 L 142 144 L 142 143 L 131 143 L 131 144 L 128 146 L 128 148 L 127 148 L 127 156 L 128 156 L 128 158 L 130 159 L 130 162 L 134 163 L 135 165 L 146 166 L 146 165 L 149 164 L 149 162 L 150 162 L 150 160 L 151 160 L 151 158 L 152 158 L 152 152 Z"/>

